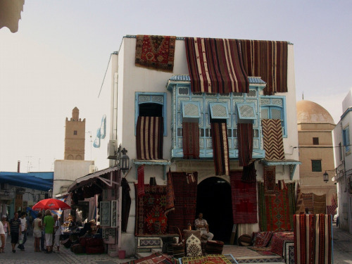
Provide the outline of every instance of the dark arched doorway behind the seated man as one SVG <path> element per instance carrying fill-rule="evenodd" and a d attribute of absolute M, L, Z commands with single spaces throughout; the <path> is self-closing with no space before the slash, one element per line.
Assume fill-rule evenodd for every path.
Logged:
<path fill-rule="evenodd" d="M 196 218 L 203 213 L 214 240 L 230 242 L 232 233 L 231 186 L 219 177 L 203 180 L 197 187 Z"/>

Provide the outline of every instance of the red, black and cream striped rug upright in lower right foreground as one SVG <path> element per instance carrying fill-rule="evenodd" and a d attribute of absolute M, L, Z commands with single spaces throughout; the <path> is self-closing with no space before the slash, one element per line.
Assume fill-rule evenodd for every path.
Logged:
<path fill-rule="evenodd" d="M 332 263 L 331 215 L 294 215 L 296 264 Z"/>

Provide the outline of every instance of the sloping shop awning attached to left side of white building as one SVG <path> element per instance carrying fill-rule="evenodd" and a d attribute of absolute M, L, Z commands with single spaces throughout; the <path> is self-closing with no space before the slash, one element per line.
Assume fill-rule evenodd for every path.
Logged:
<path fill-rule="evenodd" d="M 82 189 L 82 187 L 94 186 L 103 189 L 104 185 L 108 187 L 112 187 L 114 184 L 120 185 L 120 173 L 116 173 L 117 171 L 118 166 L 114 166 L 77 178 L 75 182 L 68 187 L 68 192 Z M 115 179 L 114 175 L 117 175 Z"/>

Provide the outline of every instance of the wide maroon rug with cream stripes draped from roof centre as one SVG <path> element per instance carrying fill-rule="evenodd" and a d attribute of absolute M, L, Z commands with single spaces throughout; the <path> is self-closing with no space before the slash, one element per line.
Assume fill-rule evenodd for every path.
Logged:
<path fill-rule="evenodd" d="M 237 39 L 186 37 L 184 43 L 193 93 L 249 92 Z"/>

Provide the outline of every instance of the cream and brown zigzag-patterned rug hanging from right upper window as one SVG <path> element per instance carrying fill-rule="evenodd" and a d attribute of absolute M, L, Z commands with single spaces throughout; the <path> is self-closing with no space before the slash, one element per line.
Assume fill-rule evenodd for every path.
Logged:
<path fill-rule="evenodd" d="M 281 120 L 279 119 L 262 119 L 263 140 L 265 159 L 283 160 L 284 142 L 282 140 Z"/>

